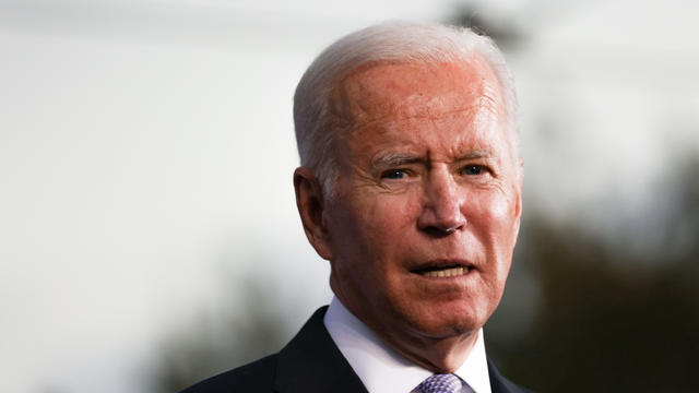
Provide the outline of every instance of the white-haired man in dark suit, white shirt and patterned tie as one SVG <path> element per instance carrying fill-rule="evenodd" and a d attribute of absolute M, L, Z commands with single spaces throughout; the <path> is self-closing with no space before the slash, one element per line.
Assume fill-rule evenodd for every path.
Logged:
<path fill-rule="evenodd" d="M 514 108 L 467 29 L 389 23 L 325 49 L 294 98 L 294 187 L 335 298 L 279 354 L 186 392 L 524 392 L 482 331 L 520 226 Z"/>

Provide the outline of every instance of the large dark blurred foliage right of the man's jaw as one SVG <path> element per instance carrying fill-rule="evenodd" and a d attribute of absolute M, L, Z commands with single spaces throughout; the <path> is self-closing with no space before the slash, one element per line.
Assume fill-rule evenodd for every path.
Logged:
<path fill-rule="evenodd" d="M 661 243 L 643 255 L 628 252 L 633 240 L 623 234 L 609 247 L 570 224 L 526 217 L 516 263 L 532 270 L 541 303 L 516 343 L 488 341 L 506 374 L 537 392 L 699 391 L 698 170 L 690 162 L 663 190 L 675 196 L 671 217 L 648 223 Z M 694 241 L 675 241 L 686 236 Z"/>

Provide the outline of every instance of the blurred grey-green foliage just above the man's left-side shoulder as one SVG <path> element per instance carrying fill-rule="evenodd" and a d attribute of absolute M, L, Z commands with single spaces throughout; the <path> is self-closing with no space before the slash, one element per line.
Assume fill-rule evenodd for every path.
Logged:
<path fill-rule="evenodd" d="M 233 277 L 232 277 L 233 278 Z M 200 312 L 162 345 L 153 391 L 174 393 L 209 377 L 279 352 L 289 338 L 279 302 L 262 277 L 232 279 L 228 301 Z M 233 309 L 241 310 L 234 312 Z"/>

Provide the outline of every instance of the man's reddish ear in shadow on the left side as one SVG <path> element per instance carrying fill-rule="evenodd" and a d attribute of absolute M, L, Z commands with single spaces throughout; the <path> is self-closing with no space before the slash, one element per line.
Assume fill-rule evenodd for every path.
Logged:
<path fill-rule="evenodd" d="M 312 170 L 298 167 L 294 171 L 296 207 L 301 217 L 306 237 L 316 252 L 325 260 L 332 259 L 332 247 L 323 219 L 323 190 Z"/>

